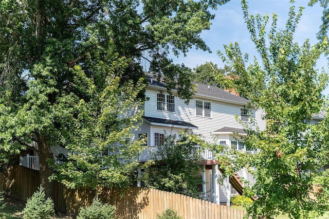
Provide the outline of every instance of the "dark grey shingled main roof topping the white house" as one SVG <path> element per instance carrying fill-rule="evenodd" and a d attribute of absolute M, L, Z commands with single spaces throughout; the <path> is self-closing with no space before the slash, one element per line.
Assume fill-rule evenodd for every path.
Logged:
<path fill-rule="evenodd" d="M 148 85 L 150 86 L 158 86 L 158 87 L 166 87 L 165 83 L 162 81 L 158 81 L 156 77 L 153 76 L 153 74 L 147 73 L 146 74 L 148 79 Z M 196 83 L 197 85 L 197 92 L 195 96 L 204 96 L 204 97 L 213 97 L 213 98 L 219 98 L 221 100 L 229 101 L 229 102 L 235 102 L 235 103 L 241 103 L 241 104 L 247 104 L 249 100 L 239 97 L 237 95 L 234 95 L 232 93 L 227 92 L 224 89 L 218 88 L 213 85 L 207 85 L 202 83 Z"/>

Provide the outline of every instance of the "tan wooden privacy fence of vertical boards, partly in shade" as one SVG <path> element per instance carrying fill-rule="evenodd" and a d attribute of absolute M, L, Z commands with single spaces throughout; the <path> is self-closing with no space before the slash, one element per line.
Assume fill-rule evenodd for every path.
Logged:
<path fill-rule="evenodd" d="M 36 191 L 39 183 L 39 171 L 15 166 L 6 174 L 0 173 L 0 190 L 26 200 Z M 77 215 L 81 206 L 90 205 L 96 196 L 91 189 L 68 189 L 58 182 L 54 183 L 54 203 L 61 212 Z M 186 195 L 175 194 L 149 188 L 129 188 L 119 195 L 115 189 L 99 189 L 99 199 L 103 203 L 116 206 L 116 218 L 155 219 L 167 208 L 174 209 L 186 219 L 240 219 L 246 211 L 228 206 L 217 205 Z"/>

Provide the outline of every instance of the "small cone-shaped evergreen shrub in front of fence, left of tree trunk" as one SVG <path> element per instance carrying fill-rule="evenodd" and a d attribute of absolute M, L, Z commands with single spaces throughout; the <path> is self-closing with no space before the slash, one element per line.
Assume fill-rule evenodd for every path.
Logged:
<path fill-rule="evenodd" d="M 40 187 L 39 191 L 33 193 L 27 199 L 26 206 L 23 210 L 25 219 L 47 219 L 54 214 L 53 202 L 50 198 L 45 198 L 44 188 Z"/>

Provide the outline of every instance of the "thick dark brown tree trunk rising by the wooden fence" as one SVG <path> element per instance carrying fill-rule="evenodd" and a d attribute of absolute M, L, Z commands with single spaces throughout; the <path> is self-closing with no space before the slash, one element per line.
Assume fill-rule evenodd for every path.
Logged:
<path fill-rule="evenodd" d="M 47 159 L 54 159 L 53 153 L 50 151 L 48 140 L 41 135 L 38 135 L 39 144 L 39 160 L 40 160 L 40 182 L 45 189 L 46 198 L 50 197 L 54 200 L 54 186 L 53 181 L 49 181 L 49 176 L 53 173 L 53 168 L 49 167 Z"/>

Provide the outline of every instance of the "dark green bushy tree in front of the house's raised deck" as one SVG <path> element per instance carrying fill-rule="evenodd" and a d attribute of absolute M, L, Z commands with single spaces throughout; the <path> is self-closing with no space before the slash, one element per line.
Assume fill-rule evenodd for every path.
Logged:
<path fill-rule="evenodd" d="M 151 188 L 175 192 L 192 197 L 199 197 L 198 186 L 202 180 L 201 166 L 193 156 L 195 145 L 204 143 L 197 136 L 186 130 L 175 134 L 165 134 L 165 139 L 154 154 L 154 165 L 144 175 L 145 185 Z"/>

